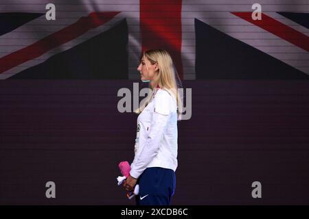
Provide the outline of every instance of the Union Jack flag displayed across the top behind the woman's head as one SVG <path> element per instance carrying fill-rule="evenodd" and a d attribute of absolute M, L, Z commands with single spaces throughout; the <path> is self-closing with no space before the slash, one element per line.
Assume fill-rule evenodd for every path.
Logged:
<path fill-rule="evenodd" d="M 1 0 L 0 79 L 138 79 L 153 48 L 183 79 L 308 79 L 308 1 L 261 0 L 262 20 L 254 3 Z"/>

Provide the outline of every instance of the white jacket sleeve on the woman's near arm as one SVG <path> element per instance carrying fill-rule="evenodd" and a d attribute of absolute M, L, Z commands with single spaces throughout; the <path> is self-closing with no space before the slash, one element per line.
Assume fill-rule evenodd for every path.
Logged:
<path fill-rule="evenodd" d="M 142 172 L 144 172 L 148 164 L 150 164 L 152 159 L 157 155 L 160 142 L 163 138 L 163 133 L 170 118 L 170 109 L 167 103 L 168 96 L 158 95 L 156 98 L 155 112 L 152 115 L 148 139 L 146 140 L 146 144 L 141 150 L 141 153 L 135 156 L 133 163 L 131 164 L 130 175 L 136 179 Z"/>

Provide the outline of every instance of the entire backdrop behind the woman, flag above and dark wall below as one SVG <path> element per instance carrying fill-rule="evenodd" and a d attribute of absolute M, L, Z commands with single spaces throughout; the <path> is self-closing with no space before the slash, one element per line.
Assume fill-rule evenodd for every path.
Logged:
<path fill-rule="evenodd" d="M 0 202 L 132 203 L 114 178 L 136 116 L 117 90 L 139 79 L 141 51 L 164 48 L 192 88 L 174 203 L 308 203 L 308 1 L 259 1 L 260 21 L 254 3 L 2 0 Z"/>

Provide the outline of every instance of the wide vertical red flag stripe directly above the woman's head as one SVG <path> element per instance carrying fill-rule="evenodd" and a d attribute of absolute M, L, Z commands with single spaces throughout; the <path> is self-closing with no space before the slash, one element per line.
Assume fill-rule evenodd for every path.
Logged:
<path fill-rule="evenodd" d="M 181 79 L 181 3 L 179 0 L 141 0 L 141 50 L 166 49 Z"/>

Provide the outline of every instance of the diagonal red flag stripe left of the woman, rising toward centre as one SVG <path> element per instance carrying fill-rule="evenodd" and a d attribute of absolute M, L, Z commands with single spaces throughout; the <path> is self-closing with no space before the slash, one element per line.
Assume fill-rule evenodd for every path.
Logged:
<path fill-rule="evenodd" d="M 91 12 L 88 16 L 80 18 L 76 23 L 51 34 L 42 40 L 38 40 L 28 47 L 14 51 L 0 58 L 0 73 L 5 72 L 19 64 L 33 60 L 47 51 L 59 47 L 65 42 L 86 33 L 90 29 L 99 27 L 110 21 L 119 12 Z"/>

